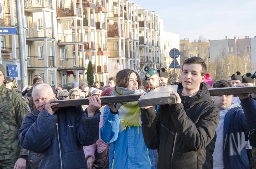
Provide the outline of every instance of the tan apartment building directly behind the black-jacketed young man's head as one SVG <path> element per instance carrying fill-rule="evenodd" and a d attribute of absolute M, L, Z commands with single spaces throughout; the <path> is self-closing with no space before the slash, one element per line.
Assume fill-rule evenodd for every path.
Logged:
<path fill-rule="evenodd" d="M 191 57 L 200 57 L 204 59 L 207 66 L 210 64 L 210 54 L 209 54 L 209 48 L 210 48 L 210 40 L 207 42 L 202 42 L 201 40 L 189 42 L 189 39 L 181 39 L 180 40 L 180 62 L 183 64 L 183 62 L 187 58 Z"/>

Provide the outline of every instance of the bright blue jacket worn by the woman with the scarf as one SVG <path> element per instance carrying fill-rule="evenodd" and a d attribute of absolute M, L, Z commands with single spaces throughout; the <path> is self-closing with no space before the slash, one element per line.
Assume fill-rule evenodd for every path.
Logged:
<path fill-rule="evenodd" d="M 119 133 L 120 119 L 105 107 L 100 137 L 109 143 L 109 169 L 154 169 L 153 151 L 148 149 L 142 127 L 127 127 Z"/>

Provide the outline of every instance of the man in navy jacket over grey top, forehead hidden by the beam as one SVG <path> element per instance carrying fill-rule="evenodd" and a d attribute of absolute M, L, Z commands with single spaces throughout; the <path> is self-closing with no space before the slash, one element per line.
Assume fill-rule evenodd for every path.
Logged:
<path fill-rule="evenodd" d="M 213 88 L 230 87 L 230 83 L 219 80 Z M 232 104 L 233 95 L 212 96 L 219 108 L 216 149 L 213 153 L 213 168 L 249 168 L 245 149 L 245 133 L 256 128 L 256 104 L 249 94 L 238 94 L 241 106 Z"/>

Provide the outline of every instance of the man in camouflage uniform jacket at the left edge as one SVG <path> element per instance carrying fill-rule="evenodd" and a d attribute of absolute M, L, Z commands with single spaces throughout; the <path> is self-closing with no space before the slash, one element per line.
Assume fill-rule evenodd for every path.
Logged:
<path fill-rule="evenodd" d="M 29 151 L 21 148 L 18 131 L 30 109 L 22 95 L 4 87 L 4 80 L 0 64 L 0 168 L 24 169 Z"/>

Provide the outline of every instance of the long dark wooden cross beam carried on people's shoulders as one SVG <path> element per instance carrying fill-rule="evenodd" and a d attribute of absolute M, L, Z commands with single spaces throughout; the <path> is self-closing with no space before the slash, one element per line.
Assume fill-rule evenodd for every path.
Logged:
<path fill-rule="evenodd" d="M 138 101 L 139 106 L 151 106 L 151 105 L 164 105 L 174 104 L 176 102 L 174 96 L 170 96 L 172 91 L 177 91 L 177 85 L 173 86 L 160 86 L 148 93 L 145 92 L 144 99 L 139 99 L 140 94 L 120 95 L 120 96 L 102 96 L 100 97 L 101 103 L 121 103 L 121 102 L 134 102 Z M 228 94 L 245 94 L 256 93 L 256 86 L 246 87 L 229 87 L 229 88 L 214 88 L 209 89 L 211 96 L 216 95 L 228 95 Z M 88 98 L 68 99 L 60 100 L 54 107 L 69 107 L 88 105 Z"/>

